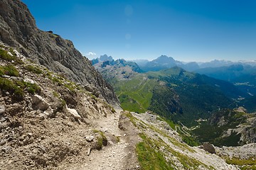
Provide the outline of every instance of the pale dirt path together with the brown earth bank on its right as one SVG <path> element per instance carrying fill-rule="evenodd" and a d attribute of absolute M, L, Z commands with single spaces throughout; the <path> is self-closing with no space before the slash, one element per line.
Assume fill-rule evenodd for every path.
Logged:
<path fill-rule="evenodd" d="M 116 110 L 117 111 L 117 110 Z M 56 169 L 62 170 L 135 170 L 139 169 L 135 147 L 139 142 L 137 128 L 132 125 L 129 118 L 122 119 L 125 127 L 120 130 L 120 112 L 108 114 L 107 117 L 90 120 L 90 125 L 85 129 L 75 129 L 73 134 L 80 134 L 79 140 L 85 140 L 85 134 L 90 131 L 100 130 L 107 137 L 107 146 L 102 149 L 92 149 L 90 155 L 87 151 L 90 147 L 81 147 L 77 156 L 67 157 Z M 122 113 L 121 113 L 122 114 Z M 71 134 L 70 134 L 71 135 Z M 119 142 L 114 142 L 119 139 Z"/>

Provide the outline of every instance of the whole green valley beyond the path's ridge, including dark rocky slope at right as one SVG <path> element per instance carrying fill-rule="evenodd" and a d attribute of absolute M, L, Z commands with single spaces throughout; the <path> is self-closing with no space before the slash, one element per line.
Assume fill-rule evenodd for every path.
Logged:
<path fill-rule="evenodd" d="M 251 113 L 253 110 L 245 104 L 252 96 L 240 87 L 228 81 L 187 72 L 180 67 L 136 72 L 129 64 L 99 62 L 94 65 L 112 84 L 124 110 L 137 113 L 151 111 L 173 121 L 176 123 L 174 130 L 181 132 L 184 139 L 189 138 L 186 142 L 196 140 L 221 147 L 255 141 L 255 135 L 252 135 L 255 113 Z M 249 106 L 250 112 L 243 108 L 235 110 L 239 106 Z M 197 122 L 199 119 L 206 121 Z M 183 130 L 183 124 L 193 130 Z M 198 145 L 198 142 L 191 143 Z"/>

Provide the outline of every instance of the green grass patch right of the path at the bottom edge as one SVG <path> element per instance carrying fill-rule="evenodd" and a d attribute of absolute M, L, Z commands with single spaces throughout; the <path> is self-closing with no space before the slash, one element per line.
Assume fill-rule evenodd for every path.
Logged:
<path fill-rule="evenodd" d="M 182 164 L 183 169 L 198 169 L 199 166 L 213 169 L 194 158 L 186 156 L 186 154 L 177 152 L 166 145 L 161 138 L 156 140 L 152 137 L 146 137 L 143 133 L 139 136 L 142 138 L 142 142 L 137 144 L 136 152 L 141 169 L 176 169 L 176 163 L 173 162 L 173 159 L 166 159 L 164 152 L 176 157 L 178 162 Z M 161 150 L 160 148 L 163 147 L 164 150 Z"/>

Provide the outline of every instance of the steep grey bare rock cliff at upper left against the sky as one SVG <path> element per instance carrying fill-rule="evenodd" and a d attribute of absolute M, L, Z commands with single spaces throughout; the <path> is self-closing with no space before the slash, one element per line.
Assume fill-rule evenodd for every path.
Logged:
<path fill-rule="evenodd" d="M 112 86 L 95 71 L 89 60 L 75 49 L 73 42 L 39 30 L 28 8 L 20 0 L 1 0 L 0 41 L 19 50 L 37 64 L 62 72 L 87 87 L 92 94 L 119 106 Z"/>

